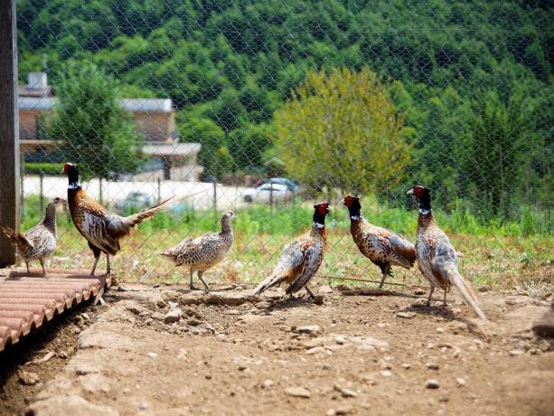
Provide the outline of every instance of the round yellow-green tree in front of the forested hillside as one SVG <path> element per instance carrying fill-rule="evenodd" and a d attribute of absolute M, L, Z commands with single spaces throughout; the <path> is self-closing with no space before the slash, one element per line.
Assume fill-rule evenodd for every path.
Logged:
<path fill-rule="evenodd" d="M 275 144 L 289 174 L 362 193 L 399 184 L 413 143 L 389 89 L 367 68 L 308 72 L 275 115 Z"/>

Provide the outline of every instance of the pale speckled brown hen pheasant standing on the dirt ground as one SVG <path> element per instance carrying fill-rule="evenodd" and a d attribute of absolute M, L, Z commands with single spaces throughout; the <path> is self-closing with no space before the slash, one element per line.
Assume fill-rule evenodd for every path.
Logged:
<path fill-rule="evenodd" d="M 233 230 L 230 223 L 236 218 L 232 211 L 226 211 L 221 215 L 221 232 L 206 232 L 195 239 L 184 238 L 175 247 L 160 253 L 174 260 L 175 266 L 187 266 L 190 269 L 191 290 L 194 289 L 192 274 L 197 271 L 198 279 L 202 281 L 205 291 L 210 291 L 202 274 L 223 260 L 230 251 L 233 243 Z"/>

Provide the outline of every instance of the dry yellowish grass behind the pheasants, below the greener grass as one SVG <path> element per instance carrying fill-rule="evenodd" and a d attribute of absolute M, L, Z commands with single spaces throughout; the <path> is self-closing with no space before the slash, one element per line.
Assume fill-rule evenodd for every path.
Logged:
<path fill-rule="evenodd" d="M 198 232 L 192 233 L 198 235 Z M 551 256 L 552 238 L 548 235 L 512 237 L 500 235 L 451 235 L 460 253 L 460 269 L 475 288 L 519 288 L 531 296 L 542 296 L 554 291 L 554 267 Z M 157 254 L 183 238 L 179 232 L 163 229 L 139 229 L 122 241 L 122 251 L 112 260 L 112 268 L 119 281 L 187 282 L 188 271 L 175 268 L 173 263 Z M 414 240 L 413 236 L 408 238 Z M 288 235 L 235 232 L 235 243 L 228 257 L 209 270 L 209 281 L 256 282 L 273 268 Z M 329 250 L 319 275 L 337 284 L 340 278 L 378 280 L 380 270 L 362 257 L 348 230 L 335 228 L 328 232 Z M 89 269 L 92 253 L 86 241 L 71 227 L 63 228 L 53 267 Z M 105 267 L 104 257 L 99 271 Z M 394 269 L 389 281 L 427 288 L 418 269 Z M 363 283 L 349 282 L 353 286 Z"/>

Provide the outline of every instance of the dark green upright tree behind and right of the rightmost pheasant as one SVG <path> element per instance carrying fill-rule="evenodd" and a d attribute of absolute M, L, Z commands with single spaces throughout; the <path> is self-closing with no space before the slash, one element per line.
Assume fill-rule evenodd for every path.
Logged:
<path fill-rule="evenodd" d="M 464 188 L 484 218 L 505 220 L 512 216 L 514 204 L 524 201 L 529 155 L 536 144 L 535 104 L 523 99 L 521 91 L 502 101 L 493 90 L 480 92 L 471 102 L 457 160 L 466 178 Z"/>

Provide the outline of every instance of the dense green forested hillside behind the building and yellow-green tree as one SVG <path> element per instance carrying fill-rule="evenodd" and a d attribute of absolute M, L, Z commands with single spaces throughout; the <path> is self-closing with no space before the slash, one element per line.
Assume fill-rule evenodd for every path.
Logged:
<path fill-rule="evenodd" d="M 47 67 L 55 86 L 70 61 L 92 61 L 120 81 L 123 96 L 171 98 L 183 141 L 202 142 L 211 172 L 256 172 L 279 156 L 274 114 L 308 71 L 367 67 L 390 84 L 413 145 L 402 183 L 380 194 L 399 200 L 399 190 L 418 181 L 434 186 L 446 206 L 464 196 L 489 217 L 518 211 L 518 202 L 549 203 L 549 2 L 23 0 L 17 7 L 22 80 Z"/>

